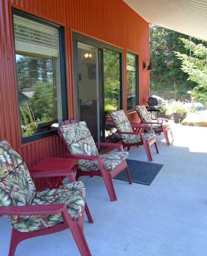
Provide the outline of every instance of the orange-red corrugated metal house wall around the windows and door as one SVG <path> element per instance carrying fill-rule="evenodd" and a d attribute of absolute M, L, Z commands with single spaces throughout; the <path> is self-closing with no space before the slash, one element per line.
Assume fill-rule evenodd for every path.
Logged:
<path fill-rule="evenodd" d="M 0 140 L 7 140 L 27 165 L 41 158 L 63 154 L 58 136 L 21 144 L 15 52 L 12 29 L 12 7 L 65 26 L 66 76 L 69 118 L 74 117 L 74 82 L 72 70 L 72 38 L 75 30 L 139 54 L 139 102 L 146 103 L 149 74 L 142 71 L 142 61 L 149 57 L 149 24 L 122 0 L 1 0 L 0 1 Z M 124 68 L 126 95 L 126 69 Z M 124 98 L 126 110 L 127 97 Z M 136 115 L 129 116 L 136 120 Z"/>

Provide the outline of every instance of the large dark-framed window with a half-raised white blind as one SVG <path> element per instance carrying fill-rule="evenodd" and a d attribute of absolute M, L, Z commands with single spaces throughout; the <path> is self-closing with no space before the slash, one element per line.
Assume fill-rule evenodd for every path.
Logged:
<path fill-rule="evenodd" d="M 63 120 L 60 27 L 13 13 L 19 117 L 24 141 L 54 134 Z"/>

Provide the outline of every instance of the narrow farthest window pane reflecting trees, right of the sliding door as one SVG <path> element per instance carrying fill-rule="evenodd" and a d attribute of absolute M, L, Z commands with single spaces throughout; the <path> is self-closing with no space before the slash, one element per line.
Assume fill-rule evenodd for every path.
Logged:
<path fill-rule="evenodd" d="M 136 56 L 127 53 L 127 110 L 136 104 Z"/>

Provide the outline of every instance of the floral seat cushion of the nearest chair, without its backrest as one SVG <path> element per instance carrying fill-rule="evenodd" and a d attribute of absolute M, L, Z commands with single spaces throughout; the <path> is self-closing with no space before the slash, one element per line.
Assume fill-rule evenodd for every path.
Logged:
<path fill-rule="evenodd" d="M 65 204 L 73 219 L 82 215 L 85 207 L 85 188 L 82 182 L 73 182 L 53 190 L 38 192 L 33 205 Z M 19 232 L 30 232 L 55 226 L 63 221 L 61 213 L 44 216 L 10 216 L 12 226 Z"/>

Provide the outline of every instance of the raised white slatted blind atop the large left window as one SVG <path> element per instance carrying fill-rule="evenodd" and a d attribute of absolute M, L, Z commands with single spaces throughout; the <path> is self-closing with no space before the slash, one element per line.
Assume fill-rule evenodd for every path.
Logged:
<path fill-rule="evenodd" d="M 16 52 L 58 57 L 58 29 L 18 15 L 13 19 Z"/>

